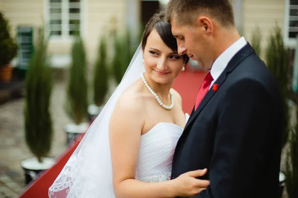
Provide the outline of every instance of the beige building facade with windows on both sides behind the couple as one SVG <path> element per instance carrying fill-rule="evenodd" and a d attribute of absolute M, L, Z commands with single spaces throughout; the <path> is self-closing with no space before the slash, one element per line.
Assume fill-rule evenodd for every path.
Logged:
<path fill-rule="evenodd" d="M 165 0 L 163 0 L 165 1 Z M 241 35 L 251 41 L 259 26 L 264 51 L 268 35 L 277 22 L 283 29 L 287 46 L 296 46 L 298 33 L 298 5 L 293 0 L 232 0 L 235 22 Z M 100 35 L 111 38 L 115 30 L 139 30 L 142 0 L 0 0 L 0 9 L 9 20 L 16 35 L 17 26 L 37 27 L 46 24 L 52 33 L 49 54 L 54 66 L 63 67 L 70 62 L 75 22 L 84 39 L 90 62 L 96 58 Z M 164 3 L 164 2 L 163 2 Z M 292 4 L 291 4 L 292 3 Z"/>

